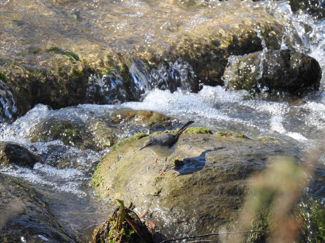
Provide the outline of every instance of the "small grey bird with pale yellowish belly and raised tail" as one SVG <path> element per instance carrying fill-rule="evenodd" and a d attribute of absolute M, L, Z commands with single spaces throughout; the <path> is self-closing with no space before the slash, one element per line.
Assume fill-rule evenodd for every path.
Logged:
<path fill-rule="evenodd" d="M 172 133 L 161 133 L 154 137 L 148 138 L 142 148 L 140 150 L 149 147 L 152 152 L 157 156 L 157 158 L 152 162 L 153 167 L 156 166 L 157 161 L 159 160 L 159 157 L 166 157 L 165 158 L 165 164 L 163 166 L 162 171 L 159 172 L 160 175 L 165 173 L 166 171 L 166 161 L 167 157 L 170 156 L 172 153 L 175 152 L 175 149 L 178 144 L 179 136 L 185 131 L 185 129 L 190 125 L 194 123 L 194 121 L 188 121 L 186 122 L 177 132 L 176 134 Z"/>

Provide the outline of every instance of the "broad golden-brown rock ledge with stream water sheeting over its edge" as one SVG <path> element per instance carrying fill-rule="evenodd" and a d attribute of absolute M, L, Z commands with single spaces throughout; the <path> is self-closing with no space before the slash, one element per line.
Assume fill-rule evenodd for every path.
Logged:
<path fill-rule="evenodd" d="M 283 35 L 281 22 L 249 1 L 97 4 L 101 11 L 56 0 L 42 1 L 42 11 L 27 0 L 2 5 L 0 79 L 16 101 L 13 115 L 37 103 L 58 109 L 139 100 L 152 87 L 222 85 L 229 55 L 262 50 L 259 35 L 277 49 Z"/>

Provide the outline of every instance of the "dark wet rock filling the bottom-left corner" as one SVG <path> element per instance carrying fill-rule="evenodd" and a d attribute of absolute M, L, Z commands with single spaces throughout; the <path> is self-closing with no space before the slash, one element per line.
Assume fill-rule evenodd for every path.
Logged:
<path fill-rule="evenodd" d="M 42 196 L 26 182 L 0 173 L 0 195 L 0 242 L 86 242 L 84 236 L 78 239 L 62 226 Z"/>

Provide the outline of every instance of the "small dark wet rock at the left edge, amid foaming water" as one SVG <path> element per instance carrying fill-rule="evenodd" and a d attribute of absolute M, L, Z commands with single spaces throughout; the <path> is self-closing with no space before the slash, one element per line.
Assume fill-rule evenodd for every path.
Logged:
<path fill-rule="evenodd" d="M 40 157 L 26 147 L 13 142 L 0 142 L 0 166 L 16 164 L 33 167 Z"/>

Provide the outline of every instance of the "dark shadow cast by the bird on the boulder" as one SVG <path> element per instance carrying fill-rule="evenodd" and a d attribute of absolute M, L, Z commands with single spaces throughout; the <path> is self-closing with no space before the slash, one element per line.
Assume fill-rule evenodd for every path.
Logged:
<path fill-rule="evenodd" d="M 224 147 L 207 149 L 204 152 L 202 152 L 199 156 L 184 158 L 183 161 L 180 161 L 180 163 L 177 163 L 175 166 L 172 166 L 170 169 L 175 169 L 176 171 L 178 171 L 179 174 L 177 176 L 192 174 L 194 172 L 201 170 L 205 166 L 205 163 L 206 163 L 205 154 L 206 153 L 212 152 L 212 151 L 218 151 L 223 148 Z"/>

